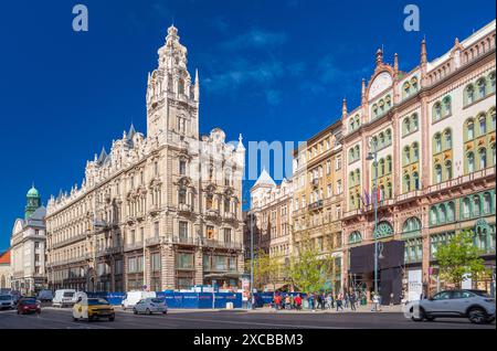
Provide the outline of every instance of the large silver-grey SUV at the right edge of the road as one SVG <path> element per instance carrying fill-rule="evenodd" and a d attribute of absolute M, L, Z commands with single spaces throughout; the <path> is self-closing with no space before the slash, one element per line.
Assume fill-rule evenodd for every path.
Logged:
<path fill-rule="evenodd" d="M 408 304 L 412 320 L 432 321 L 435 318 L 468 318 L 472 323 L 495 320 L 495 299 L 482 290 L 445 290 L 432 298 Z"/>

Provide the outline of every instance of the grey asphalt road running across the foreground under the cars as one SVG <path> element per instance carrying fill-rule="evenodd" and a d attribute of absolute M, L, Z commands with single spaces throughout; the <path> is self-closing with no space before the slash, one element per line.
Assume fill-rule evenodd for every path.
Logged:
<path fill-rule="evenodd" d="M 73 321 L 71 309 L 44 308 L 40 316 L 0 311 L 1 329 L 496 329 L 495 322 L 472 325 L 467 319 L 414 322 L 402 313 L 267 313 L 245 311 L 169 311 L 168 315 L 116 313 L 116 320 Z"/>

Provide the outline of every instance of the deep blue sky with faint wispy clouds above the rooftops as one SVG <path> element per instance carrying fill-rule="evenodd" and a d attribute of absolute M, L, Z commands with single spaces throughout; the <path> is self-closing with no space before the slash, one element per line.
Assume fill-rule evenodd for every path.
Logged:
<path fill-rule="evenodd" d="M 89 31 L 72 31 L 76 3 Z M 306 140 L 360 100 L 374 53 L 400 67 L 447 51 L 495 18 L 495 2 L 416 1 L 421 31 L 403 30 L 409 1 L 6 1 L 0 12 L 0 252 L 35 182 L 50 194 L 81 183 L 87 159 L 145 131 L 147 73 L 175 23 L 200 71 L 201 131 L 234 140 Z M 450 9 L 450 10 L 448 10 Z M 247 187 L 250 183 L 246 184 Z"/>

